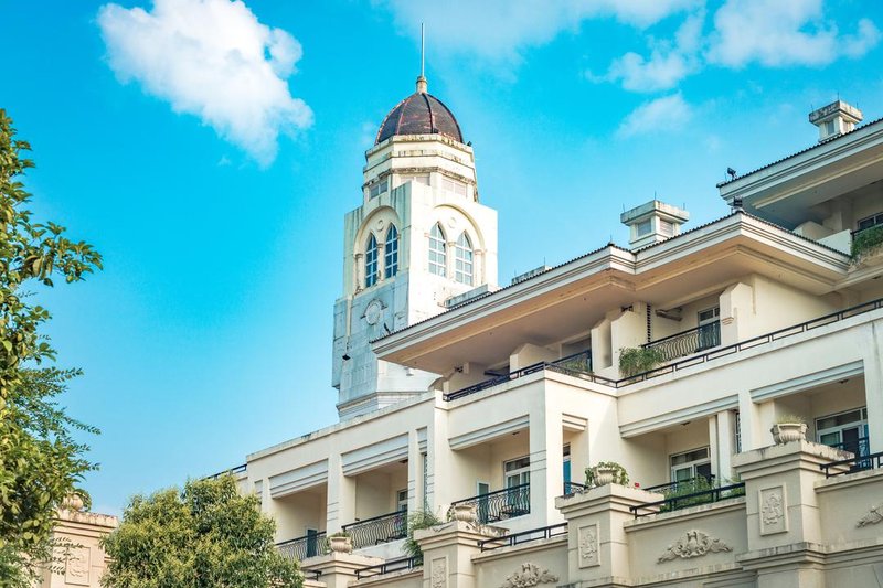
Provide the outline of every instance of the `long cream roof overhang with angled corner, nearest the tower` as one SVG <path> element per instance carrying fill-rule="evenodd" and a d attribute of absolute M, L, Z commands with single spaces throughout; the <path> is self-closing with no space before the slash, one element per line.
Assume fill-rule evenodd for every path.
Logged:
<path fill-rule="evenodd" d="M 608 246 L 374 341 L 381 360 L 435 373 L 492 365 L 518 345 L 585 336 L 636 301 L 673 308 L 760 274 L 832 291 L 849 256 L 746 214 L 733 214 L 637 252 Z"/>

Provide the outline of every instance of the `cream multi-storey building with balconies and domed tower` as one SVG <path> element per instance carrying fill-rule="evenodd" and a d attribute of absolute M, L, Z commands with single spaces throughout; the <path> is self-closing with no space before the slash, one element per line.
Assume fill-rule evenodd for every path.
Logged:
<path fill-rule="evenodd" d="M 812 113 L 819 142 L 733 173 L 722 218 L 652 201 L 628 246 L 500 288 L 472 149 L 419 77 L 344 222 L 341 420 L 236 473 L 279 548 L 328 587 L 883 586 L 883 120 L 860 120 Z M 774 445 L 780 420 L 808 441 Z M 630 485 L 585 487 L 602 462 Z M 414 567 L 421 510 L 467 514 Z"/>

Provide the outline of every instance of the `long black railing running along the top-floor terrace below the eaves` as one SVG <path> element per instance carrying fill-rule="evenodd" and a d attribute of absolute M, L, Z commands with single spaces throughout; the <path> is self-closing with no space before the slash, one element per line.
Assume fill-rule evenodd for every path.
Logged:
<path fill-rule="evenodd" d="M 508 382 L 511 379 L 517 379 L 519 377 L 525 376 L 528 374 L 533 374 L 540 372 L 542 370 L 550 370 L 552 372 L 558 372 L 562 374 L 567 374 L 571 376 L 579 377 L 582 379 L 586 379 L 588 382 L 594 382 L 596 384 L 600 384 L 604 386 L 609 386 L 611 388 L 621 388 L 625 386 L 630 386 L 631 384 L 637 384 L 639 382 L 646 382 L 648 379 L 652 379 L 655 377 L 663 376 L 666 374 L 672 374 L 684 370 L 687 367 L 692 367 L 694 365 L 701 365 L 703 363 L 708 363 L 712 360 L 717 360 L 720 357 L 727 357 L 733 355 L 734 353 L 740 353 L 742 351 L 748 351 L 754 348 L 758 348 L 760 345 L 765 345 L 768 343 L 773 343 L 779 341 L 781 339 L 787 339 L 792 335 L 797 335 L 800 333 L 805 333 L 807 331 L 811 331 L 813 329 L 818 329 L 820 327 L 826 327 L 828 324 L 833 324 L 836 322 L 842 321 L 844 319 L 850 319 L 852 317 L 858 317 L 860 314 L 864 314 L 865 312 L 871 312 L 873 310 L 877 310 L 883 308 L 883 298 L 879 298 L 876 300 L 872 300 L 870 302 L 864 302 L 862 304 L 858 304 L 844 310 L 839 310 L 837 312 L 832 312 L 830 314 L 826 314 L 823 317 L 819 317 L 812 319 L 810 321 L 801 322 L 799 324 L 795 324 L 792 327 L 786 327 L 785 329 L 779 329 L 777 331 L 773 331 L 763 335 L 758 335 L 752 339 L 747 339 L 745 341 L 741 341 L 738 343 L 734 343 L 732 345 L 727 345 L 725 348 L 715 348 L 712 351 L 701 353 L 698 355 L 693 355 L 691 357 L 687 357 L 685 360 L 671 362 L 660 367 L 655 367 L 652 370 L 648 370 L 647 372 L 642 372 L 640 374 L 636 374 L 630 377 L 624 377 L 621 379 L 610 379 L 607 377 L 597 376 L 592 373 L 581 372 L 577 370 L 570 370 L 562 365 L 556 365 L 555 362 L 543 362 L 538 363 L 534 365 L 530 365 L 524 367 L 523 370 L 519 370 L 518 372 L 512 372 L 506 376 L 500 378 L 489 379 L 487 382 L 482 382 L 480 384 L 476 384 L 474 386 L 469 386 L 468 388 L 464 388 L 457 392 L 453 392 L 450 394 L 446 394 L 444 396 L 445 400 L 455 400 L 457 398 L 462 398 L 464 396 L 469 396 L 470 394 L 475 394 L 482 389 L 492 388 L 497 384 L 502 382 Z"/>

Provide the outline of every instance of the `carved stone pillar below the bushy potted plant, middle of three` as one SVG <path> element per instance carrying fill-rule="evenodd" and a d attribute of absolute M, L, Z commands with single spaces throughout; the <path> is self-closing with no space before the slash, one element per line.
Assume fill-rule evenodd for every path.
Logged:
<path fill-rule="evenodd" d="M 629 578 L 628 537 L 623 526 L 635 518 L 629 506 L 658 500 L 661 494 L 619 484 L 555 499 L 567 521 L 567 581 L 576 586 L 600 578 Z"/>

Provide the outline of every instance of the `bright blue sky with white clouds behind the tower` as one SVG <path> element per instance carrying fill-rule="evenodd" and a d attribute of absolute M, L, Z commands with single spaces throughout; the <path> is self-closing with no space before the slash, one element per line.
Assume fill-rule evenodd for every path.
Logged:
<path fill-rule="evenodd" d="M 499 211 L 500 281 L 625 244 L 653 195 L 812 145 L 838 95 L 883 117 L 868 0 L 0 2 L 0 107 L 33 146 L 33 209 L 104 254 L 40 291 L 63 398 L 98 426 L 95 510 L 337 420 L 332 304 L 364 150 L 429 92 Z"/>

